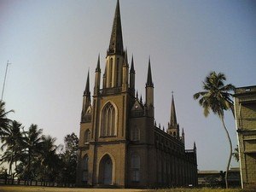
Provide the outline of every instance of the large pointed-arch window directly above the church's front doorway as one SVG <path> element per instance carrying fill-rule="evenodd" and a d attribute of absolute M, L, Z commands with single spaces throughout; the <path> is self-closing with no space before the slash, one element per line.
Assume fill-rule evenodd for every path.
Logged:
<path fill-rule="evenodd" d="M 116 136 L 117 111 L 113 105 L 108 102 L 102 109 L 101 137 Z"/>

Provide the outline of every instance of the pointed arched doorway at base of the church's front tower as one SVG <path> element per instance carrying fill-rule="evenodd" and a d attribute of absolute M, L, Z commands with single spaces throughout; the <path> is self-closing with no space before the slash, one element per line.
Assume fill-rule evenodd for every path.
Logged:
<path fill-rule="evenodd" d="M 113 180 L 113 162 L 108 154 L 102 157 L 99 170 L 99 183 L 112 184 Z"/>

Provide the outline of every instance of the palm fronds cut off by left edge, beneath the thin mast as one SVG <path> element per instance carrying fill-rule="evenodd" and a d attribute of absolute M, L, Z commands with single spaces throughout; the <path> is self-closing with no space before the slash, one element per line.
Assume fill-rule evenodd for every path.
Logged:
<path fill-rule="evenodd" d="M 5 103 L 2 100 L 0 100 L 0 138 L 1 140 L 3 135 L 9 129 L 9 123 L 11 120 L 7 118 L 7 114 L 11 112 L 14 112 L 14 110 L 9 110 L 8 112 L 5 112 Z"/>

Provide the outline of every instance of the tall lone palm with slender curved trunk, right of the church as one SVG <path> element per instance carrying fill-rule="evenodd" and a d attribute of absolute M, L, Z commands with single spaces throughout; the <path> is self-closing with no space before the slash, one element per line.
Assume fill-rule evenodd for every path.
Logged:
<path fill-rule="evenodd" d="M 230 157 L 225 173 L 225 183 L 226 188 L 228 188 L 228 172 L 230 168 L 230 160 L 232 157 L 232 143 L 229 131 L 227 130 L 227 127 L 224 123 L 224 110 L 233 110 L 234 104 L 231 99 L 233 95 L 230 93 L 230 91 L 235 90 L 235 86 L 233 84 L 224 84 L 225 80 L 226 78 L 224 73 L 210 73 L 203 82 L 204 91 L 195 93 L 194 99 L 199 99 L 199 104 L 202 108 L 204 108 L 204 115 L 206 117 L 210 113 L 210 110 L 212 110 L 214 114 L 218 115 L 224 126 L 224 131 L 226 132 L 230 143 Z"/>

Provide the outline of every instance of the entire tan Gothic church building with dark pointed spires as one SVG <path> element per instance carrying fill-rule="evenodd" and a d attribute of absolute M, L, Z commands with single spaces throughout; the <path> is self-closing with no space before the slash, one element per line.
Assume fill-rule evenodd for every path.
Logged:
<path fill-rule="evenodd" d="M 135 91 L 135 68 L 133 58 L 129 63 L 123 46 L 118 0 L 104 70 L 100 58 L 96 64 L 92 98 L 89 73 L 85 85 L 77 185 L 105 188 L 196 186 L 195 143 L 194 148 L 185 149 L 184 131 L 180 131 L 177 123 L 173 96 L 171 118 L 165 131 L 154 119 L 150 59 L 144 101 Z"/>

